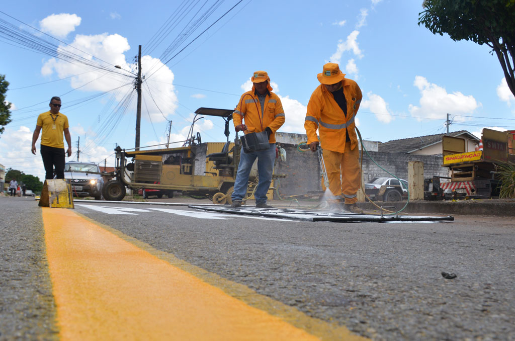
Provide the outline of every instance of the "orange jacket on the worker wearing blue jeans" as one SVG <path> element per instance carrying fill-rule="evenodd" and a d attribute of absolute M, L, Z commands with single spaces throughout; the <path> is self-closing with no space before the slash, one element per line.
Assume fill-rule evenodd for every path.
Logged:
<path fill-rule="evenodd" d="M 266 127 L 269 127 L 272 133 L 268 142 L 276 143 L 276 131 L 283 125 L 285 116 L 279 96 L 273 92 L 269 93 L 270 95 L 267 94 L 265 97 L 263 116 L 261 115 L 261 103 L 258 95 L 254 94 L 254 90 L 244 93 L 239 99 L 238 106 L 234 109 L 232 121 L 234 122 L 234 127 L 236 127 L 242 124 L 242 117 L 244 117 L 245 125 L 247 126 L 246 134 L 261 132 Z"/>

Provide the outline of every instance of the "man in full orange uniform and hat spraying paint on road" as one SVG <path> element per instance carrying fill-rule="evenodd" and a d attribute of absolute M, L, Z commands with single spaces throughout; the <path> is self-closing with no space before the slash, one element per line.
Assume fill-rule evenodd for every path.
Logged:
<path fill-rule="evenodd" d="M 344 210 L 362 214 L 356 205 L 361 174 L 354 117 L 363 95 L 355 81 L 345 78 L 338 64 L 325 64 L 317 77 L 321 84 L 311 95 L 304 121 L 307 144 L 312 151 L 319 144 L 323 149 L 329 190 L 345 200 Z"/>

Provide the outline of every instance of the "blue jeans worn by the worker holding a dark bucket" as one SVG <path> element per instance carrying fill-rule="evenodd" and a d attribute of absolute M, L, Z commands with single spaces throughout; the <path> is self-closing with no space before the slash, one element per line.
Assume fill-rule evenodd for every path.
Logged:
<path fill-rule="evenodd" d="M 247 194 L 247 184 L 254 160 L 258 158 L 259 183 L 254 192 L 256 203 L 266 202 L 266 192 L 272 182 L 273 162 L 276 159 L 276 144 L 270 143 L 270 148 L 246 153 L 243 151 L 239 157 L 238 173 L 234 181 L 232 200 L 242 200 Z"/>

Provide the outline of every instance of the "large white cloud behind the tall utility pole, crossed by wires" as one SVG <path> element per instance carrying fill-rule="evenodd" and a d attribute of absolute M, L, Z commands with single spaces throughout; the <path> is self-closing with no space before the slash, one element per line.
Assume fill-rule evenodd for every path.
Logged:
<path fill-rule="evenodd" d="M 70 79 L 70 83 L 72 88 L 77 89 L 80 87 L 81 91 L 110 91 L 130 83 L 131 78 L 133 79 L 134 76 L 124 72 L 124 70 L 135 70 L 136 66 L 135 64 L 127 63 L 125 60 L 124 52 L 130 49 L 127 38 L 117 34 L 108 35 L 107 33 L 93 36 L 77 35 L 72 45 L 90 54 L 82 54 L 82 57 L 92 60 L 93 57 L 91 55 L 93 55 L 110 64 L 120 65 L 122 70 L 114 69 L 113 67 L 113 72 L 106 72 L 105 70 L 89 71 L 89 69 L 84 69 L 81 65 L 52 58 L 43 65 L 41 73 L 43 75 L 50 75 L 56 72 L 59 78 L 77 75 Z M 70 46 L 59 46 L 58 50 L 68 49 L 72 50 Z M 73 53 L 77 53 L 77 50 L 73 49 Z M 144 75 L 145 71 L 150 75 L 159 69 L 143 83 L 142 94 L 145 111 L 148 109 L 152 122 L 163 122 L 166 120 L 165 117 L 173 114 L 177 108 L 177 95 L 173 85 L 174 74 L 166 65 L 163 66 L 163 63 L 157 58 L 143 56 L 141 62 Z M 109 65 L 108 67 L 112 66 Z M 131 78 L 120 74 L 127 74 Z M 130 87 L 128 85 L 123 88 L 123 91 L 114 92 L 116 99 L 121 100 L 126 94 L 127 90 L 125 89 L 130 89 Z M 157 105 L 154 101 L 156 101 Z M 133 101 L 132 107 L 129 110 L 135 110 L 135 105 L 135 101 Z M 143 115 L 143 117 L 148 120 L 148 115 Z"/>

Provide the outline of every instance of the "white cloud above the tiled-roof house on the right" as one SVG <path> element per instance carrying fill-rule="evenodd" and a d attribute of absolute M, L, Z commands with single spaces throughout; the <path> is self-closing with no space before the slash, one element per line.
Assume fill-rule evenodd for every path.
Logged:
<path fill-rule="evenodd" d="M 411 115 L 424 118 L 445 118 L 445 114 L 470 114 L 481 106 L 475 98 L 461 92 L 447 93 L 442 87 L 430 83 L 425 77 L 416 76 L 414 86 L 420 90 L 420 106 L 410 104 Z M 419 119 L 420 120 L 420 119 Z"/>

